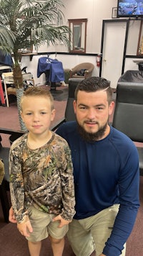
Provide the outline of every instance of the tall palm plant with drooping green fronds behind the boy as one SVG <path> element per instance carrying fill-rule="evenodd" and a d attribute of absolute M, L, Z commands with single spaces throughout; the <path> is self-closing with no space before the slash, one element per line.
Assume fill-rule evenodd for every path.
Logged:
<path fill-rule="evenodd" d="M 19 58 L 21 49 L 34 45 L 36 49 L 47 42 L 61 41 L 69 46 L 69 27 L 63 26 L 64 5 L 61 0 L 0 0 L 0 25 L 13 35 L 13 45 L 8 41 L 14 56 L 14 86 L 16 86 L 17 106 L 21 129 L 24 124 L 20 117 L 19 101 L 23 94 L 23 79 Z"/>

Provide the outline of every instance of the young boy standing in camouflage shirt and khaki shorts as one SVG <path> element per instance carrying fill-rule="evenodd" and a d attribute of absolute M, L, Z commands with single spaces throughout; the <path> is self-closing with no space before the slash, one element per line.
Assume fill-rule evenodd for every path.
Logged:
<path fill-rule="evenodd" d="M 49 130 L 54 99 L 47 89 L 31 87 L 21 98 L 21 117 L 29 131 L 10 150 L 11 204 L 17 228 L 39 256 L 49 236 L 54 256 L 64 250 L 64 235 L 74 216 L 74 179 L 69 146 Z"/>

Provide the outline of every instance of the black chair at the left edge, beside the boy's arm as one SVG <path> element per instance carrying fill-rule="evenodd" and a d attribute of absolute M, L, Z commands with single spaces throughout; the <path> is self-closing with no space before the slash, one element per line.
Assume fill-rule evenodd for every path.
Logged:
<path fill-rule="evenodd" d="M 6 139 L 9 140 L 9 147 L 4 147 L 2 145 L 2 137 L 1 134 L 8 134 Z M 9 222 L 9 208 L 10 208 L 10 201 L 7 191 L 9 191 L 9 148 L 11 143 L 14 142 L 18 137 L 20 137 L 24 132 L 21 131 L 14 131 L 10 129 L 0 128 L 0 157 L 4 163 L 4 179 L 0 185 L 0 199 L 1 199 L 1 206 L 4 214 L 4 220 Z"/>

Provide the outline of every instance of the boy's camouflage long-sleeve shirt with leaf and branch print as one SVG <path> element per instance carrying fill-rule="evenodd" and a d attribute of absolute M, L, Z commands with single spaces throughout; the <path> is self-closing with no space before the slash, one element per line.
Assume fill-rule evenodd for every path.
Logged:
<path fill-rule="evenodd" d="M 31 205 L 71 220 L 75 199 L 69 145 L 53 133 L 46 145 L 30 150 L 27 136 L 11 145 L 9 155 L 11 204 L 16 220 L 24 221 Z"/>

